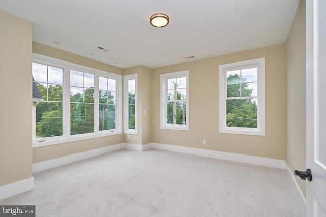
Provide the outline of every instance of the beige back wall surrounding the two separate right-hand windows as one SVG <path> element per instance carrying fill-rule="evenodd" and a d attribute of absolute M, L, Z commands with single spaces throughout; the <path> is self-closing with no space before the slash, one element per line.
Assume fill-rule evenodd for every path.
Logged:
<path fill-rule="evenodd" d="M 219 133 L 219 65 L 265 57 L 266 136 Z M 160 74 L 189 70 L 189 131 L 162 130 Z M 155 143 L 285 160 L 286 46 L 264 47 L 153 69 L 152 128 Z M 203 145 L 203 140 L 207 141 Z"/>

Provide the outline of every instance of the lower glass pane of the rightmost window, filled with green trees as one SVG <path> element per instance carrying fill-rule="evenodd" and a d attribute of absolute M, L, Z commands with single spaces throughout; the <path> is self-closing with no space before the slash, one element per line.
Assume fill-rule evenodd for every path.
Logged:
<path fill-rule="evenodd" d="M 257 128 L 257 99 L 226 100 L 226 126 Z"/>

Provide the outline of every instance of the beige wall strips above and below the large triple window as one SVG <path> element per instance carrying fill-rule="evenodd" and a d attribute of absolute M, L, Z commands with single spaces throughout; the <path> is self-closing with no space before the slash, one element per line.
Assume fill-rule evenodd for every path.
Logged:
<path fill-rule="evenodd" d="M 76 54 L 69 53 L 36 42 L 33 42 L 33 52 L 50 56 L 53 58 L 69 61 L 71 63 L 80 64 L 83 66 L 92 67 L 95 69 L 123 75 L 123 69 L 111 65 L 103 64 L 89 58 L 78 56 Z M 32 69 L 30 69 L 30 71 L 32 72 Z M 31 114 L 29 114 L 29 116 L 31 116 Z M 120 135 L 106 136 L 106 137 L 100 137 L 95 139 L 62 143 L 57 145 L 37 147 L 37 148 L 33 148 L 33 163 L 60 158 L 60 157 L 68 156 L 70 154 L 101 148 L 108 145 L 119 144 L 123 142 L 124 142 L 123 135 L 120 134 Z"/>

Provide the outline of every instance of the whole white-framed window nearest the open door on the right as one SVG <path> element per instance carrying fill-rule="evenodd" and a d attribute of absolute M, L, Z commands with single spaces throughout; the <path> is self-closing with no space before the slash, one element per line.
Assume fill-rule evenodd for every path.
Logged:
<path fill-rule="evenodd" d="M 219 132 L 265 135 L 265 58 L 219 66 Z"/>

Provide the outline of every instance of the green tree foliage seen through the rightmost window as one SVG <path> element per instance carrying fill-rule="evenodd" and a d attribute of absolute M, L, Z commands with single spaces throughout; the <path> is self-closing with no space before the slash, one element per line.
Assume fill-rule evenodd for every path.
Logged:
<path fill-rule="evenodd" d="M 227 79 L 227 97 L 250 97 L 246 79 L 238 74 Z M 241 84 L 240 84 L 241 83 Z M 226 125 L 228 127 L 257 128 L 257 105 L 253 99 L 228 99 L 226 101 Z"/>

